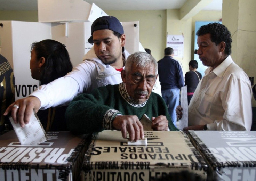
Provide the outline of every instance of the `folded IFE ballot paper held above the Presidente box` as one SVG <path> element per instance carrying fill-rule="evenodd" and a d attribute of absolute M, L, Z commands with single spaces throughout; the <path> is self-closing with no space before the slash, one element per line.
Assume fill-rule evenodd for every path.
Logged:
<path fill-rule="evenodd" d="M 25 124 L 23 128 L 19 124 L 15 124 L 12 117 L 9 118 L 21 145 L 39 145 L 48 140 L 45 130 L 35 114 L 35 110 L 30 117 L 29 123 Z"/>

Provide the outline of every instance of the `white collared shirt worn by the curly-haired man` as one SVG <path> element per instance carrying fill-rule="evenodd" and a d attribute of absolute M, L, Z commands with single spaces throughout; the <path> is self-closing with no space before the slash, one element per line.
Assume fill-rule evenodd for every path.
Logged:
<path fill-rule="evenodd" d="M 190 101 L 188 125 L 208 130 L 247 130 L 252 124 L 251 84 L 246 73 L 228 56 L 208 67 Z"/>

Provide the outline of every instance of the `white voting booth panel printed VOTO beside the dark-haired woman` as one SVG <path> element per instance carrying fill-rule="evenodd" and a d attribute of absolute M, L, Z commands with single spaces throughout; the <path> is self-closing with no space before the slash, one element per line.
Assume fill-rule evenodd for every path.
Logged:
<path fill-rule="evenodd" d="M 51 39 L 51 24 L 38 22 L 0 21 L 1 54 L 13 67 L 15 99 L 29 96 L 39 81 L 31 77 L 30 48 L 33 42 Z"/>

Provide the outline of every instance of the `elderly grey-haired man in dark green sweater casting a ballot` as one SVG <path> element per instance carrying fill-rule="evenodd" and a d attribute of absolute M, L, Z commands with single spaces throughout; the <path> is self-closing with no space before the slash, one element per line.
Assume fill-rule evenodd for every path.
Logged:
<path fill-rule="evenodd" d="M 70 102 L 67 127 L 76 134 L 107 130 L 126 131 L 130 141 L 144 138 L 143 114 L 152 120 L 155 131 L 178 131 L 162 97 L 152 92 L 157 79 L 157 61 L 146 52 L 131 54 L 121 72 L 122 83 L 94 89 Z M 149 124 L 149 123 L 146 123 Z"/>

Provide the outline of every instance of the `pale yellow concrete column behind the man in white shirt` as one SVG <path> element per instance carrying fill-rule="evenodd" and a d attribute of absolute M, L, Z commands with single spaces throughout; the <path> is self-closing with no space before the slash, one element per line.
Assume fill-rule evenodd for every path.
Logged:
<path fill-rule="evenodd" d="M 223 0 L 222 3 L 222 24 L 232 35 L 231 57 L 249 77 L 254 77 L 254 84 L 256 84 L 255 7 L 255 0 Z M 254 98 L 252 103 L 255 107 Z"/>

